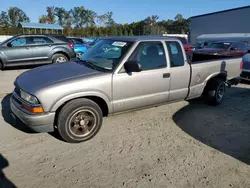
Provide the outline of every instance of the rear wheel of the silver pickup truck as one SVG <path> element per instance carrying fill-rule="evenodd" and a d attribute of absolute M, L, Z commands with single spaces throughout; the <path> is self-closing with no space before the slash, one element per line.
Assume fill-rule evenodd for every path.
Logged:
<path fill-rule="evenodd" d="M 216 106 L 219 105 L 225 95 L 226 84 L 225 82 L 218 78 L 215 79 L 208 90 L 208 102 L 210 105 Z"/>

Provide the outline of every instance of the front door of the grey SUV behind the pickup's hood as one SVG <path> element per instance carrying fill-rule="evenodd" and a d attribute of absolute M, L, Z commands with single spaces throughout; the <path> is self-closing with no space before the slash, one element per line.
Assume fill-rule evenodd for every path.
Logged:
<path fill-rule="evenodd" d="M 30 42 L 31 37 L 19 37 L 12 40 L 3 51 L 8 64 L 18 65 L 20 63 L 33 63 L 33 50 Z"/>

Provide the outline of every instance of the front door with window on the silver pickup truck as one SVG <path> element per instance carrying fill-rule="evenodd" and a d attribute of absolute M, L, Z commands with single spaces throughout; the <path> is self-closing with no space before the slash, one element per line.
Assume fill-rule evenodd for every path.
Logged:
<path fill-rule="evenodd" d="M 154 53 L 149 48 L 153 48 Z M 122 67 L 113 75 L 114 113 L 168 101 L 170 69 L 165 49 L 166 46 L 160 41 L 140 42 L 128 61 L 138 62 L 142 71 L 129 73 Z"/>

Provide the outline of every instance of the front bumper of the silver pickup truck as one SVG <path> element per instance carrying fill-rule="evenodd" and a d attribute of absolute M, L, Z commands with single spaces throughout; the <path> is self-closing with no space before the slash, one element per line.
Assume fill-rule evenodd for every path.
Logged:
<path fill-rule="evenodd" d="M 31 114 L 18 104 L 13 96 L 10 99 L 12 113 L 35 132 L 53 132 L 55 113 Z"/>

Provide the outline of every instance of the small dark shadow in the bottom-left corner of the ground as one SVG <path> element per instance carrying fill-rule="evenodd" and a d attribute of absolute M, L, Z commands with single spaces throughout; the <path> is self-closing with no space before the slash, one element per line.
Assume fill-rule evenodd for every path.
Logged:
<path fill-rule="evenodd" d="M 9 163 L 7 159 L 5 159 L 1 154 L 0 154 L 0 188 L 15 188 L 16 186 L 8 180 L 8 178 L 4 175 L 3 169 L 8 167 Z"/>

